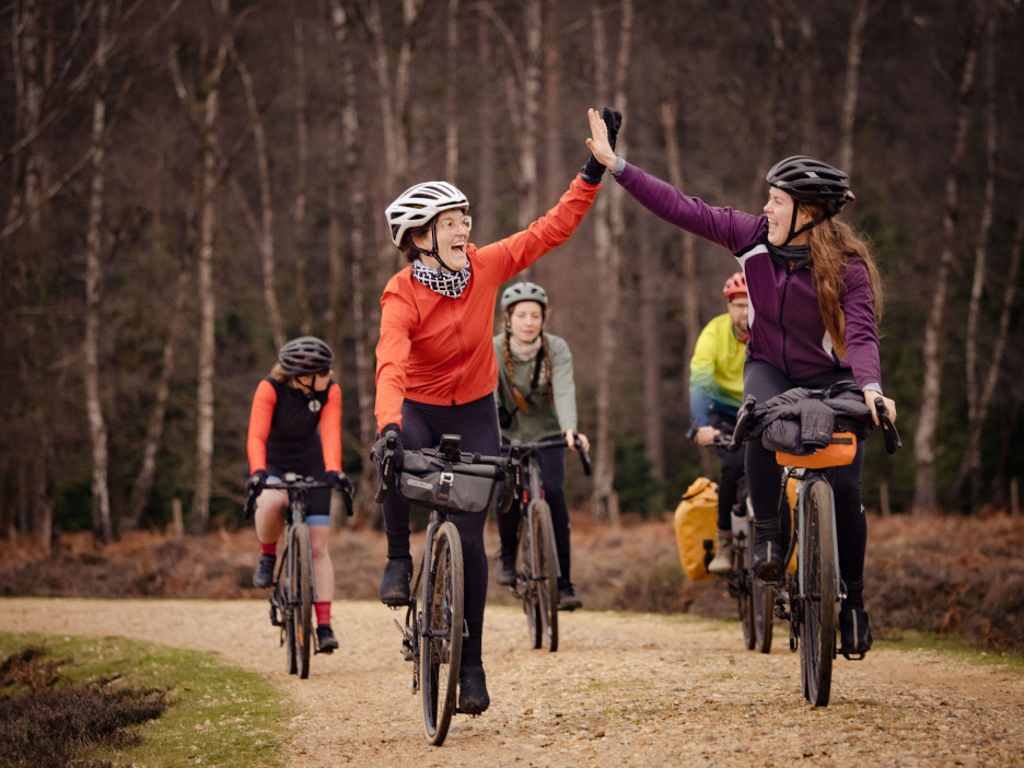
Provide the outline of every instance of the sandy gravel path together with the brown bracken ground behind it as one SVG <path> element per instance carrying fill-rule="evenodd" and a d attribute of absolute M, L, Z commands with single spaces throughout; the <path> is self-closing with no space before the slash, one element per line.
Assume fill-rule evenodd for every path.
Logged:
<path fill-rule="evenodd" d="M 1000 600 L 1021 600 L 1024 520 L 873 519 L 869 567 L 887 574 L 870 580 L 866 592 L 880 642 L 864 661 L 836 660 L 824 709 L 801 697 L 799 654 L 789 653 L 784 624 L 772 652 L 760 654 L 744 650 L 737 621 L 709 620 L 731 617 L 733 604 L 719 584 L 682 578 L 671 522 L 618 531 L 584 519 L 573 525 L 584 609 L 561 615 L 556 654 L 535 651 L 522 610 L 496 590 L 485 629 L 491 708 L 479 718 L 456 717 L 442 749 L 422 735 L 419 699 L 409 695 L 411 665 L 398 653 L 397 614 L 375 601 L 384 558 L 379 532 L 342 531 L 333 538 L 334 625 L 342 648 L 315 656 L 306 680 L 287 674 L 265 595 L 245 586 L 256 559 L 251 530 L 182 540 L 135 534 L 102 548 L 66 536 L 49 558 L 33 557 L 26 547 L 4 549 L 2 628 L 121 635 L 216 651 L 259 671 L 300 712 L 288 723 L 289 765 L 1024 761 L 1019 662 L 990 653 L 991 663 L 977 664 L 886 642 L 900 636 L 896 621 L 921 621 L 931 625 L 924 629 L 979 641 L 986 638 L 970 628 L 987 627 L 990 645 L 1005 644 L 1005 628 L 975 615 Z M 904 560 L 915 569 L 903 568 Z M 1016 591 L 1004 594 L 1004 587 Z M 928 603 L 927 593 L 938 598 Z M 622 604 L 642 613 L 609 609 Z"/>

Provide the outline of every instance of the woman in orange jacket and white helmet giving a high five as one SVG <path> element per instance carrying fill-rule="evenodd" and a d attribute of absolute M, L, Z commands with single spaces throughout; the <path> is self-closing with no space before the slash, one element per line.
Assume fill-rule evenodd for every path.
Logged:
<path fill-rule="evenodd" d="M 590 110 L 596 114 L 595 110 Z M 605 108 L 598 131 L 614 142 L 621 115 Z M 601 120 L 597 120 L 601 123 Z M 566 242 L 590 209 L 604 166 L 590 158 L 558 205 L 522 232 L 477 247 L 469 242 L 469 201 L 445 182 L 417 184 L 385 216 L 392 240 L 409 266 L 381 296 L 376 405 L 381 451 L 389 438 L 403 447 L 437 445 L 444 433 L 462 435 L 464 451 L 497 455 L 500 444 L 493 391 L 498 383 L 491 327 L 498 289 Z M 485 514 L 458 515 L 465 569 L 465 618 L 458 709 L 478 714 L 490 698 L 481 660 L 487 596 Z M 398 493 L 384 501 L 387 565 L 381 602 L 409 600 L 409 503 Z"/>

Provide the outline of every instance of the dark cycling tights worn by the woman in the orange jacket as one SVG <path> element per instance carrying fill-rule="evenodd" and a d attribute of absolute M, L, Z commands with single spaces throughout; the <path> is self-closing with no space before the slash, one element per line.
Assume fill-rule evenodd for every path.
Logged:
<path fill-rule="evenodd" d="M 431 406 L 405 400 L 402 404 L 402 445 L 406 451 L 433 447 L 442 434 L 461 434 L 462 450 L 497 456 L 499 446 L 498 410 L 487 395 L 461 406 Z M 469 637 L 463 642 L 463 665 L 480 665 L 484 635 L 484 604 L 487 601 L 487 554 L 484 550 L 484 524 L 487 514 L 454 514 L 463 546 L 465 571 L 465 618 Z M 409 556 L 409 502 L 398 493 L 384 500 L 384 531 L 387 556 Z"/>

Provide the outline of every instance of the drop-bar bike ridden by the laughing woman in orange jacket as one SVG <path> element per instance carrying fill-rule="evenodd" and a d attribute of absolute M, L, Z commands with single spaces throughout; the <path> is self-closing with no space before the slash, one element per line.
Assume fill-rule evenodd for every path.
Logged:
<path fill-rule="evenodd" d="M 445 470 L 440 473 L 438 492 L 443 497 L 444 485 L 457 482 L 454 475 L 473 469 L 489 479 L 491 487 L 504 477 L 507 459 L 500 456 L 480 456 L 458 450 L 459 435 L 446 434 L 437 449 L 419 452 L 406 451 L 404 464 L 410 453 L 442 459 Z M 384 501 L 392 488 L 397 487 L 406 499 L 422 505 L 421 498 L 410 498 L 407 484 L 431 485 L 423 478 L 405 478 L 395 454 L 396 444 L 389 440 L 381 456 L 373 456 L 379 465 L 376 500 Z M 398 478 L 405 478 L 398 481 Z M 511 500 L 509 497 L 503 504 Z M 412 662 L 412 693 L 420 691 L 423 705 L 423 724 L 427 740 L 440 746 L 447 735 L 456 708 L 458 672 L 462 666 L 463 638 L 468 636 L 464 612 L 465 575 L 463 572 L 462 539 L 451 515 L 461 510 L 447 508 L 443 501 L 430 507 L 423 557 L 416 569 L 409 587 L 409 604 L 405 622 L 395 619 L 402 632 L 402 656 Z M 486 514 L 486 509 L 482 512 Z M 474 514 L 480 514 L 479 512 Z"/>

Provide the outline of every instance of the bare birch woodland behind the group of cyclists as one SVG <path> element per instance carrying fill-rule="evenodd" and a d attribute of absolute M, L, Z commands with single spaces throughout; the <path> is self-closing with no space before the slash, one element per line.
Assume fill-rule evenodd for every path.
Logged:
<path fill-rule="evenodd" d="M 474 242 L 511 234 L 567 188 L 604 105 L 620 154 L 712 205 L 759 211 L 789 154 L 848 171 L 905 443 L 872 438 L 865 503 L 1015 510 L 1022 24 L 1019 0 L 3 3 L 0 524 L 236 525 L 252 394 L 300 334 L 338 357 L 359 480 L 400 266 L 384 207 L 444 178 Z M 570 491 L 595 520 L 714 472 L 684 437 L 687 361 L 734 268 L 606 177 L 523 276 L 574 353 L 595 475 L 573 466 Z"/>

